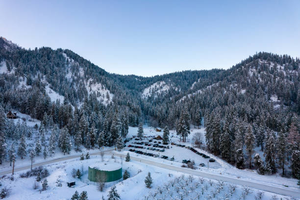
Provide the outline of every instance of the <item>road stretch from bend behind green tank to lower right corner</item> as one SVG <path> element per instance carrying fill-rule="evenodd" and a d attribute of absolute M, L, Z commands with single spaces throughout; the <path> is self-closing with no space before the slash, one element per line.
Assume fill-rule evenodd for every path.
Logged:
<path fill-rule="evenodd" d="M 117 153 L 117 152 L 114 152 L 114 155 L 125 156 L 125 154 Z M 160 167 L 160 168 L 164 168 L 164 169 L 168 169 L 168 170 L 186 173 L 189 175 L 196 175 L 196 176 L 201 176 L 201 177 L 205 177 L 205 178 L 224 180 L 224 181 L 231 182 L 231 183 L 234 183 L 237 185 L 247 185 L 251 188 L 255 188 L 258 190 L 264 190 L 264 191 L 272 192 L 272 193 L 279 194 L 279 195 L 300 198 L 300 189 L 299 189 L 299 191 L 290 190 L 290 189 L 280 188 L 280 187 L 276 187 L 276 186 L 272 186 L 272 185 L 266 185 L 263 183 L 251 182 L 248 180 L 231 178 L 231 177 L 227 177 L 227 176 L 223 176 L 223 175 L 210 174 L 210 173 L 200 172 L 197 170 L 191 170 L 191 169 L 187 169 L 187 168 L 177 167 L 174 165 L 169 165 L 169 164 L 164 164 L 164 163 L 155 162 L 155 161 L 151 161 L 151 160 L 146 160 L 146 159 L 143 159 L 140 157 L 135 157 L 135 156 L 130 156 L 130 158 L 132 160 L 135 160 L 135 161 L 147 164 L 147 165 L 152 165 L 155 167 Z"/>

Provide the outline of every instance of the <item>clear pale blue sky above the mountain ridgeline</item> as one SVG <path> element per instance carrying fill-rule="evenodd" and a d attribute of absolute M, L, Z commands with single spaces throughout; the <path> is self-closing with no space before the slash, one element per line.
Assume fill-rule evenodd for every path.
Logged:
<path fill-rule="evenodd" d="M 267 51 L 300 56 L 300 0 L 2 0 L 0 35 L 73 50 L 108 72 L 227 69 Z"/>

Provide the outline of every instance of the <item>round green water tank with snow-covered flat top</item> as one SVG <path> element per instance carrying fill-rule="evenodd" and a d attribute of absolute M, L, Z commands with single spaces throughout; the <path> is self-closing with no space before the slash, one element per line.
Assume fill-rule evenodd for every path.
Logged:
<path fill-rule="evenodd" d="M 111 182 L 122 178 L 122 166 L 115 162 L 102 162 L 89 166 L 88 179 L 94 182 Z"/>

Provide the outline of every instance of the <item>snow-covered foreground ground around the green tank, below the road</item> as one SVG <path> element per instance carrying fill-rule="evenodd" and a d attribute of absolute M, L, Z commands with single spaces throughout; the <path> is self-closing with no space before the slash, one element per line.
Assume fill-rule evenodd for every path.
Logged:
<path fill-rule="evenodd" d="M 243 199 L 244 196 L 245 200 L 252 200 L 258 192 L 258 190 L 249 188 L 250 193 L 246 195 L 243 186 L 197 176 L 192 177 L 135 161 L 125 162 L 124 157 L 113 159 L 106 155 L 104 156 L 105 161 L 122 165 L 123 172 L 127 170 L 130 174 L 128 179 L 121 179 L 119 182 L 113 183 L 116 185 L 122 200 L 222 200 L 224 197 L 228 197 L 228 200 L 239 200 Z M 112 183 L 108 183 L 104 191 L 100 192 L 93 182 L 87 180 L 88 166 L 97 165 L 97 163 L 101 165 L 100 156 L 91 156 L 91 159 L 87 160 L 74 159 L 45 166 L 50 173 L 47 177 L 49 187 L 46 191 L 40 191 L 41 182 L 39 182 L 39 188 L 33 189 L 36 177 L 21 178 L 21 172 L 14 175 L 14 180 L 11 180 L 10 176 L 2 176 L 1 182 L 11 190 L 10 195 L 7 197 L 8 200 L 70 200 L 75 191 L 78 191 L 79 194 L 82 191 L 87 191 L 89 200 L 100 200 L 102 196 L 107 199 Z M 72 177 L 73 169 L 83 170 L 83 176 L 80 179 Z M 148 172 L 151 173 L 153 178 L 151 188 L 146 188 L 144 183 Z M 61 179 L 62 187 L 56 186 L 57 178 Z M 76 182 L 74 188 L 67 186 L 69 181 Z M 270 200 L 273 195 L 264 192 L 262 200 Z M 280 195 L 277 195 L 277 197 L 284 198 Z"/>

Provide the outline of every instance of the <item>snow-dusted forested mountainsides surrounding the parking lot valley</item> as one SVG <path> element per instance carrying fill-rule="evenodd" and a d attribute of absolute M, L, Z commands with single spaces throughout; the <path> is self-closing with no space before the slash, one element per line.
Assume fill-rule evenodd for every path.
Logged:
<path fill-rule="evenodd" d="M 57 136 L 51 143 L 64 152 L 72 146 L 110 146 L 126 136 L 128 126 L 141 123 L 168 126 L 185 140 L 190 126 L 204 118 L 210 152 L 241 169 L 273 174 L 280 168 L 284 174 L 291 168 L 300 176 L 299 58 L 259 52 L 228 70 L 142 77 L 108 73 L 71 50 L 25 50 L 0 38 L 0 70 L 4 65 L 2 158 L 9 150 L 5 137 L 30 137 L 30 130 L 5 119 L 12 109 L 41 120 L 41 132 L 52 129 Z M 63 101 L 52 101 L 49 88 Z M 264 159 L 253 155 L 255 147 Z"/>

